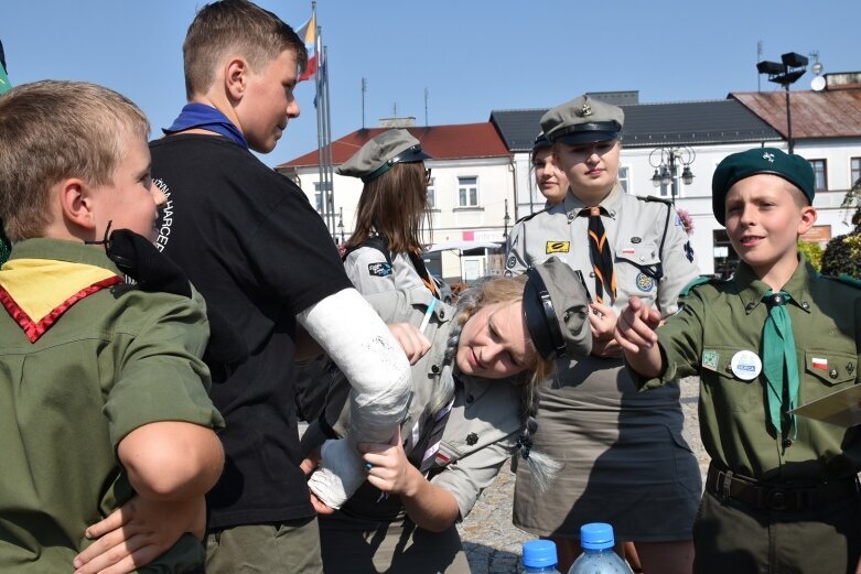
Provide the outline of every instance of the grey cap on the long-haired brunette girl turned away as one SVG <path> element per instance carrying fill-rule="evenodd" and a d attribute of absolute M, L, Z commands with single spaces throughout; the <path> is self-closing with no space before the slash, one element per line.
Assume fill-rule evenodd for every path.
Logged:
<path fill-rule="evenodd" d="M 429 159 L 430 155 L 421 151 L 419 140 L 410 132 L 388 130 L 359 148 L 337 169 L 337 173 L 360 177 L 363 182 L 368 183 L 389 171 L 396 163 L 415 163 Z"/>

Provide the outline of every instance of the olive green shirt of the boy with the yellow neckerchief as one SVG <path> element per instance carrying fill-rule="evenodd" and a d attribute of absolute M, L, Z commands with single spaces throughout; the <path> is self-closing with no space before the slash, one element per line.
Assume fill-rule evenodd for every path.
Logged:
<path fill-rule="evenodd" d="M 15 243 L 0 277 L 14 273 L 9 266 L 19 259 L 119 274 L 100 247 L 30 239 Z M 45 291 L 50 282 L 28 289 Z M 0 572 L 73 571 L 89 543 L 85 529 L 132 494 L 116 448 L 134 429 L 223 424 L 206 393 L 207 339 L 196 293 L 108 286 L 74 303 L 34 343 L 0 308 Z M 186 534 L 141 571 L 190 572 L 204 555 Z"/>

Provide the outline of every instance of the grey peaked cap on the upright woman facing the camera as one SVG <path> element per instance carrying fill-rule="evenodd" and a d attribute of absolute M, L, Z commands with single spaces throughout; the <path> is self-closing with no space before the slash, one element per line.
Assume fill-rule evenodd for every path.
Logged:
<path fill-rule="evenodd" d="M 615 140 L 625 123 L 618 106 L 580 96 L 541 116 L 541 129 L 551 142 L 577 145 Z"/>

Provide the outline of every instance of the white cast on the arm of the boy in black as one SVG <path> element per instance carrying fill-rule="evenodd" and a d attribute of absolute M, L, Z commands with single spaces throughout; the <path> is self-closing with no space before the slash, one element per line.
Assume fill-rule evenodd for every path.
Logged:
<path fill-rule="evenodd" d="M 367 478 L 356 444 L 388 443 L 407 413 L 410 365 L 355 289 L 327 296 L 297 318 L 353 387 L 349 433 L 323 445 L 323 466 L 308 481 L 326 506 L 341 508 Z"/>

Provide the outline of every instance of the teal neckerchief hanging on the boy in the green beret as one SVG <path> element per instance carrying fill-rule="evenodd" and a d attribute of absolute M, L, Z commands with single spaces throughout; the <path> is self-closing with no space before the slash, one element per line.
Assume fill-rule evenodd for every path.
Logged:
<path fill-rule="evenodd" d="M 774 293 L 771 289 L 763 295 L 768 305 L 768 318 L 763 326 L 763 373 L 767 381 L 772 424 L 778 433 L 783 432 L 782 414 L 798 407 L 798 362 L 793 323 L 786 311 L 790 299 L 786 291 Z M 788 416 L 797 436 L 795 416 Z"/>

